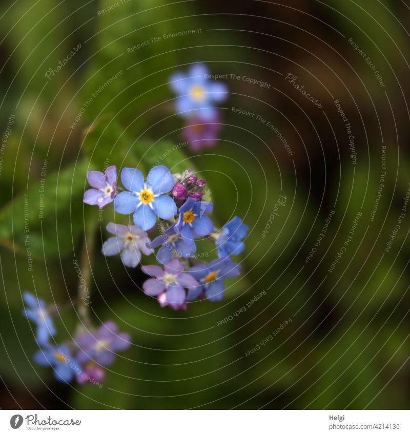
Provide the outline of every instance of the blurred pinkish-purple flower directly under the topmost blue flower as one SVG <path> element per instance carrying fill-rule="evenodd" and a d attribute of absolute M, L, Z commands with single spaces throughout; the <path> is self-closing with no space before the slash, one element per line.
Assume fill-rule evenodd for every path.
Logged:
<path fill-rule="evenodd" d="M 182 138 L 189 142 L 193 151 L 203 148 L 212 148 L 218 141 L 218 133 L 221 129 L 218 113 L 214 112 L 212 119 L 193 118 L 182 131 Z"/>

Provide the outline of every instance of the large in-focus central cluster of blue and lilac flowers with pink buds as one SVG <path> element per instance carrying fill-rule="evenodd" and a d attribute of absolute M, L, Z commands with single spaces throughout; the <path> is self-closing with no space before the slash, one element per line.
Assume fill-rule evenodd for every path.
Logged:
<path fill-rule="evenodd" d="M 156 260 L 163 268 L 144 265 L 141 270 L 150 276 L 142 285 L 144 292 L 156 297 L 161 306 L 186 309 L 187 302 L 198 298 L 221 300 L 224 280 L 240 275 L 240 265 L 231 256 L 243 252 L 248 226 L 235 217 L 215 229 L 208 216 L 213 204 L 202 200 L 206 182 L 198 180 L 192 169 L 171 174 L 158 165 L 145 178 L 138 169 L 124 168 L 121 182 L 126 190 L 115 191 L 114 210 L 132 214 L 134 225 L 109 223 L 107 231 L 115 237 L 104 242 L 103 254 L 120 254 L 126 266 L 136 267 L 141 253 L 148 256 L 158 248 Z M 160 234 L 151 241 L 146 232 L 155 224 Z M 209 264 L 198 260 L 196 240 L 200 238 L 214 244 L 218 259 Z"/>

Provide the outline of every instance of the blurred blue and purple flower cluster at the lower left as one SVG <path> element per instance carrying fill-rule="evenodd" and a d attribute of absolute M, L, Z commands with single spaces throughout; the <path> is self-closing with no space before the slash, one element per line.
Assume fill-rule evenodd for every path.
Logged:
<path fill-rule="evenodd" d="M 131 345 L 128 334 L 118 333 L 118 327 L 111 321 L 98 329 L 85 330 L 67 343 L 50 343 L 55 336 L 52 314 L 56 307 L 46 307 L 43 300 L 25 292 L 23 300 L 28 306 L 23 314 L 36 324 L 36 338 L 40 347 L 34 354 L 34 361 L 54 369 L 54 377 L 59 382 L 90 382 L 100 386 L 105 380 L 104 368 L 114 362 L 117 351 L 126 350 Z"/>

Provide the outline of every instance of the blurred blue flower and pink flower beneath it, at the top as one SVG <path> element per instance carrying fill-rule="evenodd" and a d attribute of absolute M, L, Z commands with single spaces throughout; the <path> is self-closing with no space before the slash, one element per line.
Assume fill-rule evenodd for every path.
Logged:
<path fill-rule="evenodd" d="M 194 64 L 187 74 L 178 72 L 170 77 L 169 85 L 177 95 L 177 114 L 187 119 L 182 137 L 192 150 L 213 147 L 218 138 L 221 116 L 215 104 L 227 98 L 226 85 L 212 81 L 208 69 Z"/>

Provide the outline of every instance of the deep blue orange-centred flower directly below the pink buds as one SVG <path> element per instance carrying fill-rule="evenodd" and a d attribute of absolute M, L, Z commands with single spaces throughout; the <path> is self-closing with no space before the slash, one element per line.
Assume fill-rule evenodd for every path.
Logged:
<path fill-rule="evenodd" d="M 194 243 L 195 238 L 207 236 L 214 231 L 212 220 L 205 216 L 212 210 L 212 203 L 199 202 L 195 198 L 188 198 L 187 202 L 181 205 L 175 229 L 188 246 Z"/>

